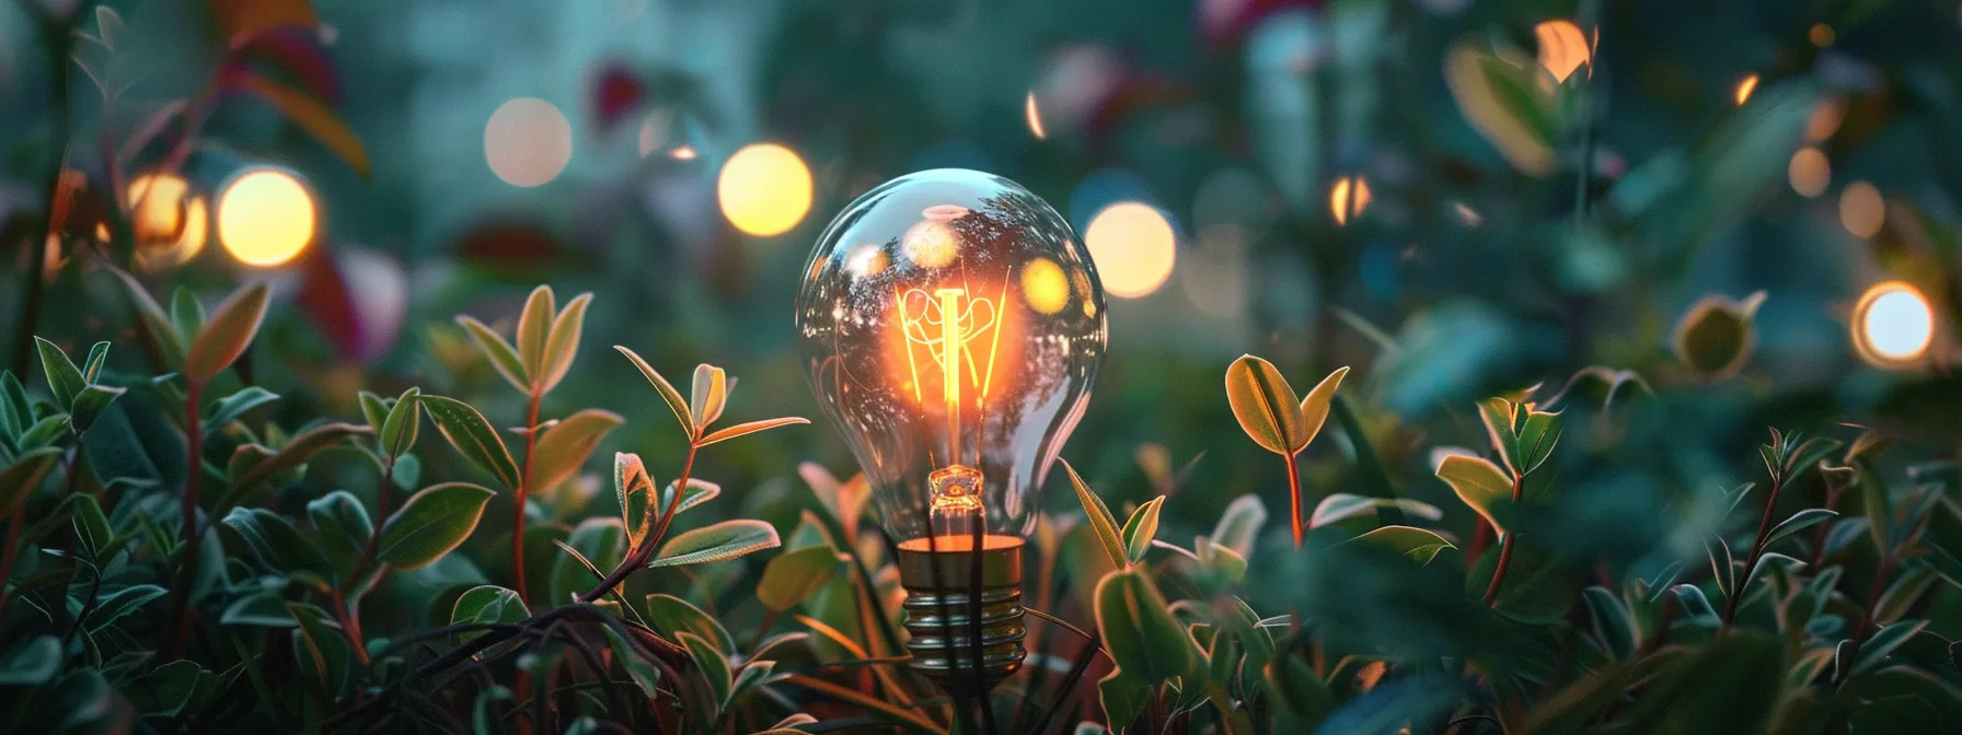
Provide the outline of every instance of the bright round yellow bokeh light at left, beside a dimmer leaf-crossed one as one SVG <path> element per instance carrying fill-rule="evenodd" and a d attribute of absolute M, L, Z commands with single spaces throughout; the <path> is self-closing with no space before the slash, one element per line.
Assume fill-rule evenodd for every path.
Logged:
<path fill-rule="evenodd" d="M 284 169 L 253 169 L 218 192 L 218 243 L 239 263 L 271 269 L 314 241 L 314 194 Z"/>

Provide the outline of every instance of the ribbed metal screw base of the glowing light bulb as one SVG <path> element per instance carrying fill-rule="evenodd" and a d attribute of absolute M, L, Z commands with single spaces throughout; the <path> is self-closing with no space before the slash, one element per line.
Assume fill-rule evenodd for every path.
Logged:
<path fill-rule="evenodd" d="M 1022 539 L 942 535 L 899 545 L 912 670 L 948 692 L 993 688 L 1022 668 Z"/>

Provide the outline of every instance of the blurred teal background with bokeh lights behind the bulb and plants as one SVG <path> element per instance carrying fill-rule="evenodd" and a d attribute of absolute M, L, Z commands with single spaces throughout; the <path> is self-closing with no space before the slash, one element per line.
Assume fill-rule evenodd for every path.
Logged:
<path fill-rule="evenodd" d="M 1173 492 L 1167 539 L 1287 504 L 1224 400 L 1242 353 L 1297 390 L 1356 367 L 1375 451 L 1438 504 L 1432 457 L 1483 449 L 1473 400 L 1587 390 L 1566 527 L 1605 559 L 1670 541 L 1646 508 L 1756 476 L 1766 425 L 1962 429 L 1956 0 L 0 4 L 6 349 L 133 339 L 102 265 L 159 298 L 273 280 L 251 372 L 294 423 L 408 384 L 520 423 L 453 318 L 508 333 L 540 282 L 596 296 L 545 416 L 624 414 L 602 451 L 673 476 L 683 447 L 614 343 L 726 367 L 736 419 L 816 419 L 810 245 L 936 167 L 1087 239 L 1110 351 L 1063 457 L 1120 514 Z M 1362 494 L 1352 453 L 1324 431 L 1309 494 Z M 820 421 L 697 474 L 791 525 L 799 461 L 855 470 Z"/>

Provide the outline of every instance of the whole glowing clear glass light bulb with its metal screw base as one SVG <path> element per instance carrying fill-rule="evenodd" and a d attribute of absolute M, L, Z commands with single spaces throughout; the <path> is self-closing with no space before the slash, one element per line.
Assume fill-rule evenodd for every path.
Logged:
<path fill-rule="evenodd" d="M 912 668 L 946 686 L 1001 680 L 1026 655 L 1038 490 L 1109 337 L 1089 251 L 1007 178 L 906 174 L 818 237 L 797 329 L 899 545 Z"/>

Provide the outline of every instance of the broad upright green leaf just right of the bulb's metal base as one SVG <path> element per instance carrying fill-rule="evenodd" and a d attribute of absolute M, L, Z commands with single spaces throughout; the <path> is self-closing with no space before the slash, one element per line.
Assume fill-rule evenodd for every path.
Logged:
<path fill-rule="evenodd" d="M 1122 568 L 1097 582 L 1097 631 L 1118 668 L 1148 684 L 1197 672 L 1193 637 L 1142 570 Z"/>

